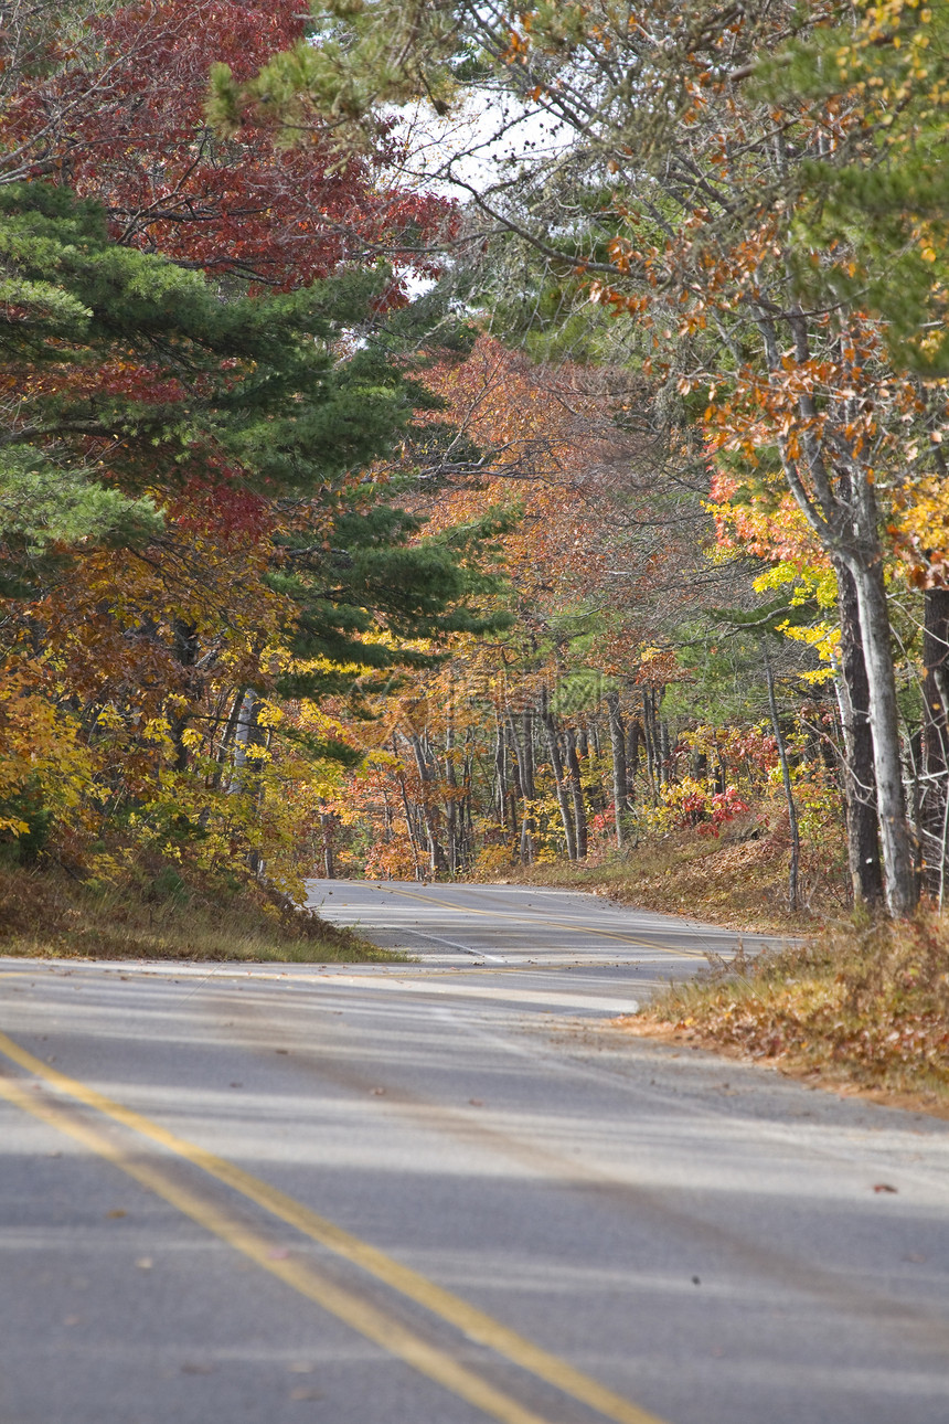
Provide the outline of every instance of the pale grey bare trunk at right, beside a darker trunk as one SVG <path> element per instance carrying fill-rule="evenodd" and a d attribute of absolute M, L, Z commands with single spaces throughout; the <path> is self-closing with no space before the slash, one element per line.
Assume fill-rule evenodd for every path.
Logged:
<path fill-rule="evenodd" d="M 859 627 L 866 661 L 886 909 L 896 918 L 903 918 L 912 913 L 916 903 L 916 886 L 899 760 L 899 709 L 889 641 L 886 590 L 879 560 L 868 560 L 866 562 L 854 560 L 851 572 L 857 584 Z"/>

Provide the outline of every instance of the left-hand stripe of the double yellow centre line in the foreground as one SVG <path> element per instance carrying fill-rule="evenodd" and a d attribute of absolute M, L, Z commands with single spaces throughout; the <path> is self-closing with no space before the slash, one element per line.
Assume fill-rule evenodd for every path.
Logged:
<path fill-rule="evenodd" d="M 24 1112 L 33 1114 L 48 1126 L 67 1134 L 84 1148 L 105 1158 L 120 1171 L 134 1178 L 142 1186 L 164 1198 L 184 1216 L 189 1216 L 199 1226 L 219 1236 L 233 1250 L 248 1256 L 263 1270 L 269 1270 L 292 1290 L 313 1300 L 323 1310 L 343 1320 L 353 1330 L 357 1330 L 367 1340 L 381 1346 L 390 1354 L 397 1356 L 420 1374 L 427 1376 L 445 1390 L 472 1404 L 482 1414 L 499 1420 L 501 1424 L 551 1424 L 549 1418 L 525 1408 L 509 1394 L 495 1388 L 481 1376 L 458 1364 L 450 1354 L 437 1346 L 428 1344 L 414 1330 L 405 1329 L 401 1321 L 386 1314 L 376 1306 L 360 1300 L 359 1296 L 334 1282 L 306 1262 L 276 1257 L 273 1245 L 259 1232 L 250 1230 L 230 1212 L 222 1209 L 215 1202 L 206 1200 L 196 1192 L 174 1182 L 166 1172 L 148 1162 L 139 1162 L 128 1156 L 120 1146 L 111 1142 L 102 1132 L 90 1128 L 84 1122 L 75 1121 L 67 1111 L 50 1102 L 36 1099 L 18 1084 L 0 1078 L 0 1096 L 13 1102 Z"/>

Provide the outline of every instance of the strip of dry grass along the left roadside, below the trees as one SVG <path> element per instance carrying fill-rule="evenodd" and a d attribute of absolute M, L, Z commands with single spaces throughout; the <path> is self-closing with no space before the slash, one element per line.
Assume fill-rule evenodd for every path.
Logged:
<path fill-rule="evenodd" d="M 55 866 L 0 866 L 0 954 L 100 960 L 401 963 L 263 886 L 228 894 L 158 877 L 100 889 Z"/>

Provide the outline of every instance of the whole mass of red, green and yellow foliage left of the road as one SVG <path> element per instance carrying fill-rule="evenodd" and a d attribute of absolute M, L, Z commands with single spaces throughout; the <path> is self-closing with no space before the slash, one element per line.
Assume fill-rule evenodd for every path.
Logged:
<path fill-rule="evenodd" d="M 0 843 L 299 894 L 359 755 L 314 699 L 477 627 L 474 534 L 418 541 L 363 474 L 427 400 L 381 325 L 451 214 L 381 151 L 218 141 L 211 64 L 302 30 L 289 6 L 198 10 L 63 16 L 18 84 L 9 56 Z"/>

